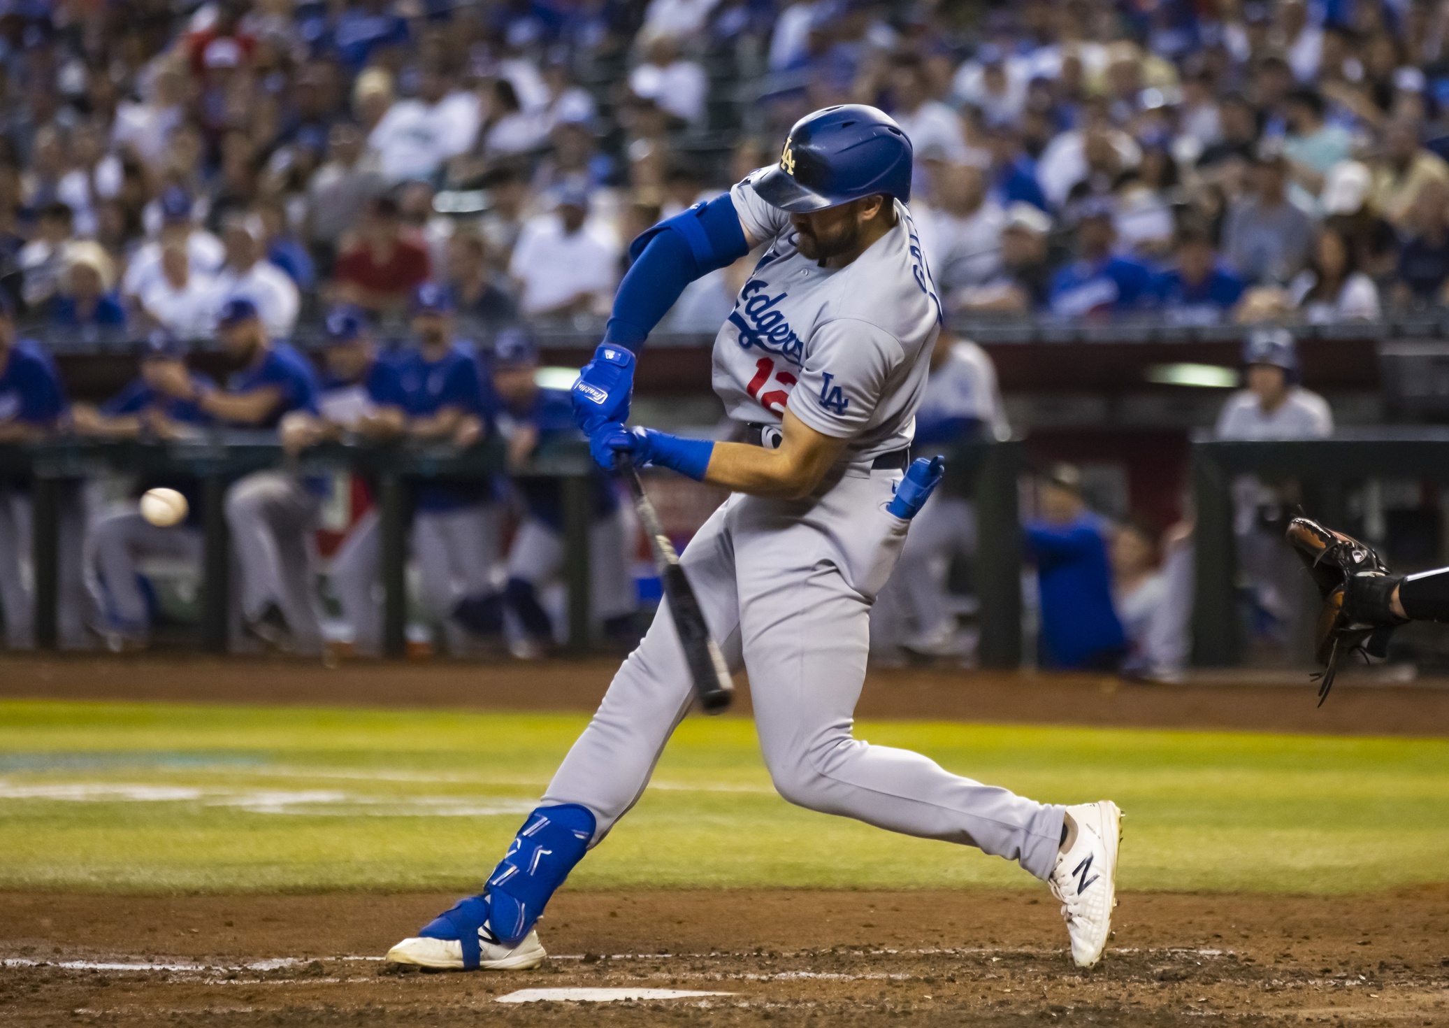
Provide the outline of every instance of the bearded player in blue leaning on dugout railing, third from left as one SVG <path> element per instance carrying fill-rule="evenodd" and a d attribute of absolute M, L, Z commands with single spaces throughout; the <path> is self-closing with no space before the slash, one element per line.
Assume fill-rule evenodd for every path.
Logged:
<path fill-rule="evenodd" d="M 222 304 L 216 336 L 242 368 L 226 389 L 199 383 L 184 368 L 159 368 L 152 387 L 194 403 L 223 425 L 277 428 L 293 410 L 317 413 L 312 362 L 267 335 L 256 306 L 236 297 Z M 291 471 L 256 471 L 226 492 L 242 592 L 242 625 L 270 645 L 300 654 L 322 652 L 322 626 L 313 589 L 312 534 L 326 481 Z"/>

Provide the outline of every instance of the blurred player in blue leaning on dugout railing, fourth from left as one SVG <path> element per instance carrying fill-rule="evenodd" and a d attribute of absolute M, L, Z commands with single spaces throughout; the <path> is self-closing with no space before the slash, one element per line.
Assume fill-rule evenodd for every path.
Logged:
<path fill-rule="evenodd" d="M 393 361 L 378 355 L 367 315 L 339 306 L 323 320 L 327 374 L 317 393 L 317 416 L 294 412 L 287 419 L 290 447 L 310 447 L 343 434 L 384 442 L 407 432 L 407 397 Z M 375 657 L 383 644 L 383 618 L 375 586 L 381 561 L 378 512 L 364 513 L 332 558 L 332 589 L 352 628 L 352 647 Z"/>

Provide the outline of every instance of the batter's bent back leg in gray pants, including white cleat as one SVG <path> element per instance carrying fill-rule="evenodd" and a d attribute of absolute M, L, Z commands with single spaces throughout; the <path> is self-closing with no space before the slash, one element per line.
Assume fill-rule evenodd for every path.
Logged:
<path fill-rule="evenodd" d="M 793 803 L 1020 863 L 1062 899 L 1072 956 L 1090 966 L 1114 903 L 1114 805 L 1037 803 L 852 735 L 868 605 L 904 531 L 882 509 L 880 477 L 845 478 L 797 519 L 782 516 L 793 505 L 767 500 L 740 512 L 740 644 L 769 773 Z"/>

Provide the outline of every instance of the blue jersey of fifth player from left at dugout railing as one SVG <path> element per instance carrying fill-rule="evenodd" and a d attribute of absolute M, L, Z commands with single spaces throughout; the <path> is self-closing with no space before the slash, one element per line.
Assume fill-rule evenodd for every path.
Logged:
<path fill-rule="evenodd" d="M 436 361 L 423 360 L 419 349 L 409 349 L 397 358 L 397 373 L 403 389 L 403 410 L 410 418 L 429 418 L 445 407 L 458 407 L 477 415 L 485 425 L 493 423 L 491 384 L 485 384 L 478 358 L 462 344 L 454 344 Z M 493 481 L 478 478 L 445 478 L 419 483 L 419 510 L 455 510 L 493 499 Z"/>

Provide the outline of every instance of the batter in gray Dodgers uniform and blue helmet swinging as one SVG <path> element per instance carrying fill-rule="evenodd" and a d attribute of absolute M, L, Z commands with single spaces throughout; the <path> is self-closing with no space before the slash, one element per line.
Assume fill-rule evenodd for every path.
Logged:
<path fill-rule="evenodd" d="M 730 490 L 682 563 L 726 663 L 749 671 L 780 793 L 1019 861 L 1062 899 L 1072 956 L 1088 966 L 1110 928 L 1116 805 L 1036 803 L 851 734 L 871 602 L 942 468 L 909 460 L 940 322 L 906 207 L 910 173 L 910 142 L 874 107 L 797 122 L 778 165 L 633 241 L 604 342 L 574 386 L 575 413 L 604 467 L 626 454 Z M 688 281 L 756 242 L 769 245 L 716 336 L 713 376 L 755 445 L 626 429 L 633 351 Z M 639 799 L 690 703 L 662 606 L 483 893 L 388 960 L 536 966 L 533 925 L 549 896 Z"/>

